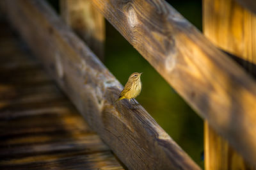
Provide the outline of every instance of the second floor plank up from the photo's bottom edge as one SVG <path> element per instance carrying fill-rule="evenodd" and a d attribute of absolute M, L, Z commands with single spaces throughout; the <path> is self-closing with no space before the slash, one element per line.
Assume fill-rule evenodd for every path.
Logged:
<path fill-rule="evenodd" d="M 51 141 L 51 143 L 21 144 L 17 146 L 9 144 L 1 148 L 0 159 L 43 155 L 45 153 L 72 152 L 77 150 L 83 150 L 84 153 L 88 154 L 97 151 L 109 151 L 109 148 L 105 144 L 102 144 L 98 135 L 86 135 L 81 139 L 62 139 L 60 141 Z"/>

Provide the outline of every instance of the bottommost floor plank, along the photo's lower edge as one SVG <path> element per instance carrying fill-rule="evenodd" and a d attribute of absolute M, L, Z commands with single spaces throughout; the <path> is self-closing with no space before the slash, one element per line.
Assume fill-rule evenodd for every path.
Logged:
<path fill-rule="evenodd" d="M 109 152 L 61 153 L 7 160 L 2 169 L 124 169 Z"/>

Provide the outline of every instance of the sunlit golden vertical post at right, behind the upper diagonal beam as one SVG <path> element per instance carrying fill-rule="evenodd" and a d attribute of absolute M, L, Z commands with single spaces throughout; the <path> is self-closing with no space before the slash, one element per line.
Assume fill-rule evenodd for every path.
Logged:
<path fill-rule="evenodd" d="M 256 69 L 256 16 L 234 0 L 204 0 L 204 34 L 215 45 Z M 227 65 L 228 66 L 228 65 Z M 205 121 L 205 169 L 255 169 Z"/>

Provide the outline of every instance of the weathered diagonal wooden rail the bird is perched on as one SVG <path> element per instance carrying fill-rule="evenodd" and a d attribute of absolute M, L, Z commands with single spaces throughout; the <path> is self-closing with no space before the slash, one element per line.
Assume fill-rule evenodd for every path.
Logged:
<path fill-rule="evenodd" d="M 121 84 L 45 1 L 0 3 L 90 127 L 129 169 L 200 169 L 141 105 L 113 105 Z"/>

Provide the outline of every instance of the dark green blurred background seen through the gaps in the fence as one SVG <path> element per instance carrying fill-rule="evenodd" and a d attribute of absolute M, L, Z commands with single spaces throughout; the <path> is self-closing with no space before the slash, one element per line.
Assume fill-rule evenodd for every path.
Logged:
<path fill-rule="evenodd" d="M 58 1 L 49 0 L 58 9 Z M 202 1 L 168 1 L 178 12 L 202 30 Z M 143 88 L 136 100 L 202 168 L 204 128 L 202 119 L 189 107 L 152 66 L 106 21 L 104 64 L 123 85 L 133 72 L 143 72 Z"/>

